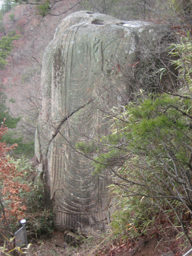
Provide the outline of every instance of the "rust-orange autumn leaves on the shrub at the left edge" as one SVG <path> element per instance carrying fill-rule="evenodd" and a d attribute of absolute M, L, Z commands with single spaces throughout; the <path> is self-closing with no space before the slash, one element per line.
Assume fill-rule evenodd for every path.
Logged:
<path fill-rule="evenodd" d="M 0 139 L 7 132 L 8 128 L 2 124 L 0 127 Z M 6 143 L 0 142 L 0 191 L 2 198 L 1 202 L 6 201 L 6 207 L 4 207 L 0 219 L 8 218 L 22 218 L 26 211 L 26 205 L 19 196 L 21 190 L 29 192 L 27 184 L 23 184 L 16 180 L 17 177 L 22 177 L 24 171 L 17 171 L 14 164 L 9 163 L 9 159 L 6 157 L 6 153 L 14 149 L 17 144 L 7 147 Z M 7 203 L 8 202 L 8 203 Z"/>

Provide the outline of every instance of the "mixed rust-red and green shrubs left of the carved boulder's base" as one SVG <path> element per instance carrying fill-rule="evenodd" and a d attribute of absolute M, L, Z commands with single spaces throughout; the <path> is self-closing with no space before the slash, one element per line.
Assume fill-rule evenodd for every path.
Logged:
<path fill-rule="evenodd" d="M 0 138 L 7 130 L 2 124 Z M 12 246 L 9 238 L 19 228 L 22 218 L 27 219 L 29 239 L 47 236 L 53 231 L 54 215 L 44 203 L 42 179 L 38 178 L 28 159 L 20 157 L 15 160 L 7 155 L 16 146 L 7 147 L 5 142 L 0 142 L 0 243 L 3 245 L 6 239 L 7 247 Z"/>

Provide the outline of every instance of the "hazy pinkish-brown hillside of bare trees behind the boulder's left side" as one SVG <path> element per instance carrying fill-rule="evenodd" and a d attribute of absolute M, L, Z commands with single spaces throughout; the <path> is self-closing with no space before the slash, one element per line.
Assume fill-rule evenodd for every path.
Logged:
<path fill-rule="evenodd" d="M 67 10 L 72 4 L 67 2 L 59 3 L 58 9 Z M 6 2 L 4 5 L 6 7 Z M 42 56 L 46 45 L 53 38 L 56 26 L 66 15 L 42 17 L 33 5 L 13 4 L 7 9 L 4 5 L 1 37 L 2 40 L 9 38 L 11 42 L 6 61 L 1 61 L 2 94 L 7 98 L 9 114 L 17 118 L 17 122 L 20 119 L 18 128 L 9 131 L 11 134 L 7 135 L 7 139 L 9 143 L 19 143 L 24 154 L 26 151 L 32 157 L 35 126 L 41 107 Z M 1 121 L 3 119 L 2 116 Z M 13 128 L 10 125 L 8 127 Z M 17 150 L 19 155 L 22 150 Z"/>

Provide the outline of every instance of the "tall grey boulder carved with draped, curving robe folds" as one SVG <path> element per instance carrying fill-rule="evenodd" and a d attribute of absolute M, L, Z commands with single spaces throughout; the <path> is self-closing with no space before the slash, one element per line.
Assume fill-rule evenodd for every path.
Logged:
<path fill-rule="evenodd" d="M 56 206 L 56 225 L 105 229 L 110 219 L 110 176 L 93 175 L 78 142 L 107 133 L 101 109 L 122 103 L 122 71 L 139 63 L 154 40 L 147 22 L 78 11 L 58 26 L 42 66 L 42 110 L 35 155 Z"/>

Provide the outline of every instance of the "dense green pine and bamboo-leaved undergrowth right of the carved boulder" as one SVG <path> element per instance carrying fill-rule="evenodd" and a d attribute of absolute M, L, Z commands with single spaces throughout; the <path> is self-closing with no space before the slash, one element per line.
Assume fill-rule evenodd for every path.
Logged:
<path fill-rule="evenodd" d="M 114 177 L 119 210 L 112 226 L 124 239 L 174 236 L 183 249 L 192 246 L 191 47 L 188 33 L 168 49 L 180 86 L 164 94 L 140 89 L 111 118 L 112 134 L 100 140 L 105 153 L 95 151 L 96 172 Z M 167 73 L 166 66 L 159 69 L 160 79 Z"/>

